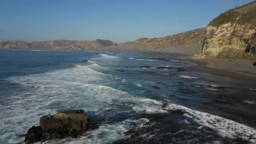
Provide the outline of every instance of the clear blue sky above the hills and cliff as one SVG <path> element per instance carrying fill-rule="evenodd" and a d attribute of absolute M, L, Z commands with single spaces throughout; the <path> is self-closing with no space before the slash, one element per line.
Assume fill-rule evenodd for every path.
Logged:
<path fill-rule="evenodd" d="M 96 40 L 115 43 L 206 27 L 253 0 L 0 0 L 0 41 Z"/>

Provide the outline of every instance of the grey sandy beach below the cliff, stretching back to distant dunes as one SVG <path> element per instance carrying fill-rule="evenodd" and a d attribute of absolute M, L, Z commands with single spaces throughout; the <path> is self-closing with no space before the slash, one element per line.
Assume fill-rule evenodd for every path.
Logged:
<path fill-rule="evenodd" d="M 237 59 L 236 61 L 229 61 L 228 59 L 193 59 L 192 57 L 198 53 L 201 44 L 181 45 L 163 50 L 152 50 L 145 48 L 142 45 L 133 43 L 122 43 L 117 46 L 105 47 L 103 51 L 148 51 L 148 52 L 160 52 L 160 53 L 177 53 L 180 57 L 176 57 L 177 60 L 191 61 L 197 63 L 197 65 L 188 67 L 188 71 L 193 72 L 207 72 L 213 74 L 212 77 L 218 79 L 229 77 L 228 81 L 243 86 L 252 86 L 252 83 L 256 81 L 256 67 L 253 66 L 251 61 L 245 59 Z"/>

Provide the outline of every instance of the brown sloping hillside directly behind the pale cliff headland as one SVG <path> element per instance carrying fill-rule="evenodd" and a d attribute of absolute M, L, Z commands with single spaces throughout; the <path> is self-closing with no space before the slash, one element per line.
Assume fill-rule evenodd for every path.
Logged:
<path fill-rule="evenodd" d="M 160 38 L 140 38 L 134 41 L 135 44 L 144 45 L 151 49 L 164 49 L 177 45 L 189 45 L 195 43 L 203 43 L 206 31 L 205 28 L 194 29 L 187 32 L 182 32 L 176 35 L 170 35 Z"/>

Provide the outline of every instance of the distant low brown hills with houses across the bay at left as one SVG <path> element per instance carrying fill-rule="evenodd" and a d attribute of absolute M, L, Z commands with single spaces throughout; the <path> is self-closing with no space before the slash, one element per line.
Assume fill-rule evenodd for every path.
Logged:
<path fill-rule="evenodd" d="M 41 42 L 5 41 L 0 49 L 45 49 L 45 50 L 82 50 L 115 45 L 110 40 L 49 40 Z"/>

